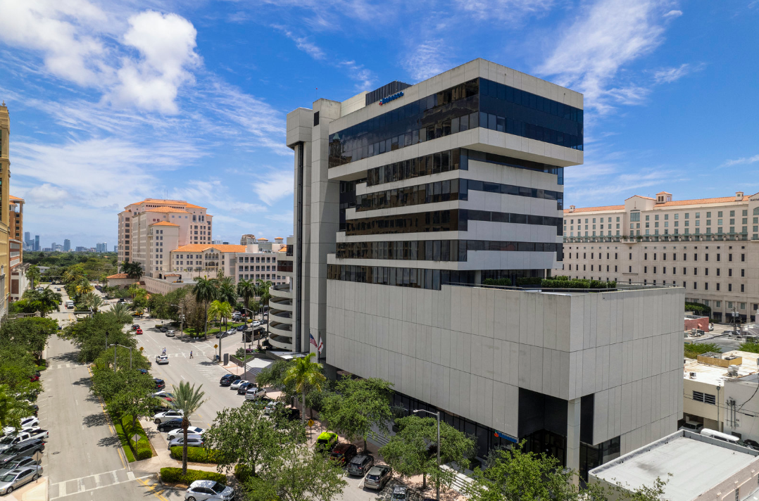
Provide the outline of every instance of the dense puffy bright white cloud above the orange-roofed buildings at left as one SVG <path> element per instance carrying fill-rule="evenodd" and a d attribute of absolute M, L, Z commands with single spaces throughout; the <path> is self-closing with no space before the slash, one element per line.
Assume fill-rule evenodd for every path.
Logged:
<path fill-rule="evenodd" d="M 108 99 L 134 103 L 138 108 L 163 113 L 178 111 L 178 87 L 192 80 L 187 68 L 198 65 L 197 31 L 177 14 L 144 11 L 129 18 L 124 44 L 140 53 L 140 61 L 122 58 L 119 83 Z"/>

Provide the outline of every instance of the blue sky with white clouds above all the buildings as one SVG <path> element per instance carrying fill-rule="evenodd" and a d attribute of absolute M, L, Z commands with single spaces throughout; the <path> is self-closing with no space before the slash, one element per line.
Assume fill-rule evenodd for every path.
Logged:
<path fill-rule="evenodd" d="M 11 193 L 43 245 L 145 197 L 292 233 L 285 114 L 482 57 L 585 96 L 565 203 L 759 191 L 759 0 L 0 0 Z M 318 88 L 318 90 L 317 90 Z"/>

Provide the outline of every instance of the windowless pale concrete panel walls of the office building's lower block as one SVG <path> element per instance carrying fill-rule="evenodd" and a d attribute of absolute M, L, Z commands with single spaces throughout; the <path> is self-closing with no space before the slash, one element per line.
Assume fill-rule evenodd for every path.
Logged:
<path fill-rule="evenodd" d="M 622 453 L 682 415 L 681 288 L 540 294 L 328 281 L 327 362 L 518 435 L 518 388 L 595 393 L 594 443 Z M 645 312 L 645 314 L 641 314 Z"/>

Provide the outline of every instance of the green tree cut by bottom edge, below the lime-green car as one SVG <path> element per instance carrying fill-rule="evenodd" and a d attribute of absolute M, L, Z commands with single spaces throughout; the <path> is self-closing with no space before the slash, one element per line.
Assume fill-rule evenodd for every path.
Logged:
<path fill-rule="evenodd" d="M 348 485 L 342 465 L 298 443 L 269 461 L 266 472 L 247 481 L 248 501 L 332 501 Z"/>

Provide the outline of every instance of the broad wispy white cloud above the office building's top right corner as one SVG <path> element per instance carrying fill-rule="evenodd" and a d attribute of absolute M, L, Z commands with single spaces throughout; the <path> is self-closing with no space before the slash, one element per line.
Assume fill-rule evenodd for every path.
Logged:
<path fill-rule="evenodd" d="M 622 66 L 663 42 L 666 0 L 599 0 L 567 27 L 556 49 L 536 68 L 584 93 L 585 107 L 609 112 L 614 102 L 640 102 L 639 85 L 614 85 Z M 673 16 L 669 16 L 673 17 Z M 611 88 L 609 88 L 611 87 Z"/>

